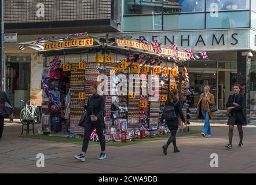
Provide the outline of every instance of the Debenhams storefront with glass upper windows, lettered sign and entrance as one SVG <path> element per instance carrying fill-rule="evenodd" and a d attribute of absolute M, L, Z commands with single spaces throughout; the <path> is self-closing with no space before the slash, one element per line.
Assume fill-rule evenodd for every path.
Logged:
<path fill-rule="evenodd" d="M 192 107 L 208 84 L 218 108 L 224 110 L 232 85 L 238 82 L 247 87 L 247 110 L 256 110 L 256 57 L 247 57 L 249 51 L 256 56 L 256 31 L 251 28 L 256 28 L 256 1 L 216 2 L 171 0 L 160 5 L 156 1 L 125 1 L 123 33 L 182 49 L 208 51 L 210 60 L 189 62 Z M 211 14 L 213 8 L 217 14 Z"/>

